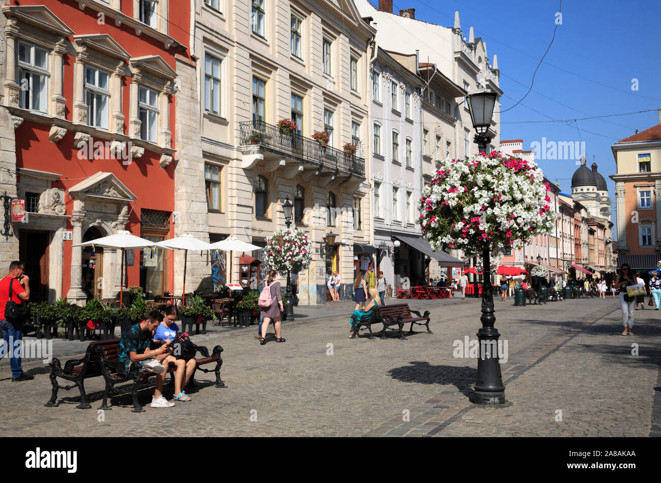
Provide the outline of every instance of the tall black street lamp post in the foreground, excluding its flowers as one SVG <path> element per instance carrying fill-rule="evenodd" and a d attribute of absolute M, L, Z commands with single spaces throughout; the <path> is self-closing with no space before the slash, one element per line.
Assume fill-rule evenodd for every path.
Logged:
<path fill-rule="evenodd" d="M 487 152 L 491 137 L 488 129 L 491 126 L 491 116 L 496 104 L 497 94 L 483 91 L 471 94 L 468 97 L 468 106 L 471 112 L 471 121 L 477 131 L 475 143 L 480 152 Z M 483 270 L 490 273 L 490 249 L 485 247 L 482 251 Z M 477 376 L 475 378 L 474 404 L 489 406 L 505 404 L 505 385 L 502 383 L 500 373 L 500 360 L 498 359 L 498 338 L 500 333 L 494 327 L 494 299 L 491 294 L 491 277 L 483 277 L 482 284 L 482 327 L 477 331 L 480 347 L 480 357 L 477 359 Z"/>

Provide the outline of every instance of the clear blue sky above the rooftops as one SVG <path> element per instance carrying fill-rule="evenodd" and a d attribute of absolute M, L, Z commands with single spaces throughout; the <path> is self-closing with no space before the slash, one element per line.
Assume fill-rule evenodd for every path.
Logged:
<path fill-rule="evenodd" d="M 378 5 L 377 0 L 370 0 Z M 508 0 L 461 2 L 397 0 L 393 11 L 415 8 L 416 19 L 452 26 L 459 11 L 461 29 L 468 38 L 473 26 L 476 37 L 486 42 L 490 62 L 498 56 L 502 110 L 519 101 L 530 86 L 535 67 L 551 42 L 559 0 Z M 658 19 L 661 2 L 643 0 L 635 5 L 620 1 L 564 1 L 562 24 L 557 28 L 549 53 L 535 75 L 533 91 L 518 106 L 503 112 L 501 139 L 522 139 L 524 150 L 531 143 L 585 142 L 588 166 L 593 156 L 605 177 L 613 201 L 615 222 L 615 173 L 611 145 L 658 124 L 661 109 L 661 63 L 658 62 Z M 378 27 L 377 27 L 378 28 Z M 638 90 L 632 90 L 637 79 Z M 575 122 L 520 123 L 534 120 L 566 120 L 650 112 Z M 580 131 L 579 131 L 580 130 Z M 537 161 L 547 178 L 557 179 L 569 193 L 575 160 Z"/>

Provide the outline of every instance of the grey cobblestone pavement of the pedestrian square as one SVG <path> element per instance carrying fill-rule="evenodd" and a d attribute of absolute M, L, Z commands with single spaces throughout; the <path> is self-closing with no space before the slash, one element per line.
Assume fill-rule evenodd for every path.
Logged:
<path fill-rule="evenodd" d="M 11 383 L 3 366 L 0 430 L 5 436 L 124 436 L 136 427 L 156 435 L 169 435 L 169 427 L 233 436 L 660 434 L 661 312 L 637 311 L 635 335 L 622 337 L 617 299 L 524 308 L 496 297 L 496 327 L 508 343 L 501 365 L 508 404 L 496 409 L 469 402 L 477 361 L 453 357 L 454 341 L 477 338 L 479 300 L 409 303 L 431 310 L 434 333 L 416 326 L 405 341 L 351 340 L 350 310 L 338 308 L 334 318 L 285 323 L 286 343 L 271 338 L 260 346 L 254 328 L 196 335 L 198 344 L 225 349 L 221 377 L 228 387 L 215 388 L 212 374 L 200 374 L 203 384 L 190 390 L 192 402 L 167 409 L 149 408 L 153 390 L 146 389 L 141 414 L 130 411 L 126 396 L 112 398 L 111 411 L 97 412 L 100 378 L 85 382 L 94 409 L 75 409 L 75 389 L 61 390 L 61 404 L 46 408 L 51 390 L 43 364 L 25 363 L 35 379 L 20 383 Z M 165 394 L 170 398 L 171 389 Z M 168 425 L 155 419 L 159 412 Z"/>

